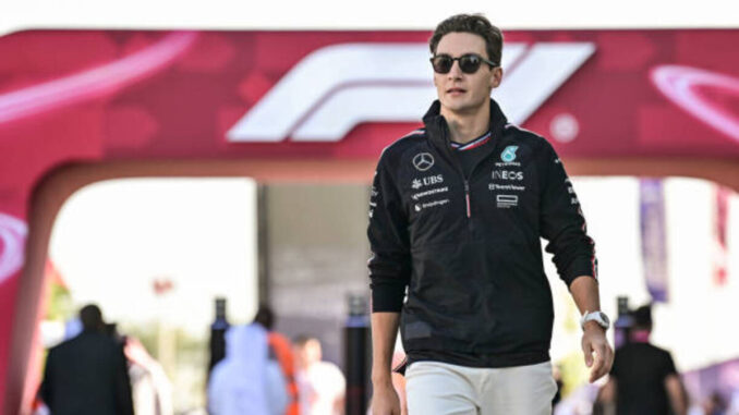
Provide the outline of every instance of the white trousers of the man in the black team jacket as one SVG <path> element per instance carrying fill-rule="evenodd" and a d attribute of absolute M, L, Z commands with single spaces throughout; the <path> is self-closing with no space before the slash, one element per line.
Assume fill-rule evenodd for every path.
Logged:
<path fill-rule="evenodd" d="M 552 363 L 477 368 L 414 362 L 405 371 L 409 415 L 552 415 Z"/>

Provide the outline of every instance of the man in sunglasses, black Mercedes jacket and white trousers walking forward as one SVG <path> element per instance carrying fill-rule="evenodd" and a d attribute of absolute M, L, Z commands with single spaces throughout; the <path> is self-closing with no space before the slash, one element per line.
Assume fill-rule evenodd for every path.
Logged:
<path fill-rule="evenodd" d="M 400 325 L 411 415 L 550 414 L 554 312 L 540 236 L 584 315 L 591 381 L 613 362 L 594 244 L 552 146 L 490 99 L 500 30 L 456 15 L 429 48 L 438 100 L 423 129 L 383 151 L 370 203 L 373 413 L 400 413 L 390 380 Z"/>

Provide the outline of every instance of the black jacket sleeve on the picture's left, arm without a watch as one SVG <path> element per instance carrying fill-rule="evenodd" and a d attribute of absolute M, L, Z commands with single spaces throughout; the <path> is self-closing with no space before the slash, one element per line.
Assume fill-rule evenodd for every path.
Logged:
<path fill-rule="evenodd" d="M 411 274 L 408 216 L 396 185 L 387 152 L 380 156 L 370 196 L 367 228 L 372 256 L 372 310 L 399 313 Z"/>

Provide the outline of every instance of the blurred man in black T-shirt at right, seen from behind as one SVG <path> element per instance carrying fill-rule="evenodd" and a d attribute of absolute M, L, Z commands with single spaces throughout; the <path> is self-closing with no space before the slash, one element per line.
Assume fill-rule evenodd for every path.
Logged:
<path fill-rule="evenodd" d="M 599 400 L 618 415 L 685 415 L 687 396 L 669 352 L 650 344 L 652 307 L 637 308 L 629 342 L 616 350 Z"/>

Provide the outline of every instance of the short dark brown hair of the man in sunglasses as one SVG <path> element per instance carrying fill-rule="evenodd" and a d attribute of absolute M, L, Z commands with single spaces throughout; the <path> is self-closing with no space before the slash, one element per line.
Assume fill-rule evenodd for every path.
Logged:
<path fill-rule="evenodd" d="M 432 54 L 436 54 L 436 48 L 445 35 L 450 33 L 471 33 L 485 39 L 487 59 L 500 65 L 502 54 L 502 32 L 494 26 L 482 14 L 456 14 L 439 23 L 428 39 L 428 48 Z"/>

